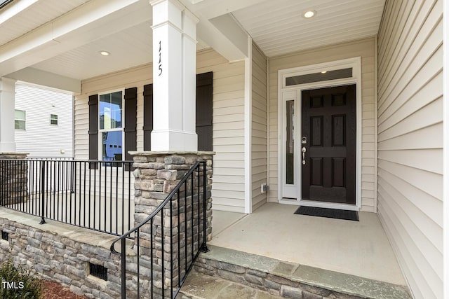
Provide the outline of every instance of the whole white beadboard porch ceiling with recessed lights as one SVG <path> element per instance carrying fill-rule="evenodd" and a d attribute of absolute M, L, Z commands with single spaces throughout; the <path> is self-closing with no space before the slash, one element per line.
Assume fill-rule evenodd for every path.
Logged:
<path fill-rule="evenodd" d="M 229 54 L 242 49 L 242 35 L 233 39 L 239 25 L 272 57 L 374 36 L 384 7 L 384 0 L 180 1 L 200 18 L 197 49 L 210 45 L 229 60 L 245 55 Z M 15 0 L 8 6 L 0 11 L 0 76 L 31 67 L 83 80 L 152 62 L 148 0 Z M 307 9 L 316 16 L 302 18 Z M 51 38 L 39 40 L 45 35 Z"/>

